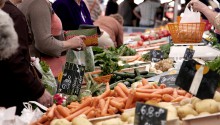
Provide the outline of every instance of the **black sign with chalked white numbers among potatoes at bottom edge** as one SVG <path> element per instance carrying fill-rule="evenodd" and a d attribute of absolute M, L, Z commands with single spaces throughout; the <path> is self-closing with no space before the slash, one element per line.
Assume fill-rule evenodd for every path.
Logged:
<path fill-rule="evenodd" d="M 137 102 L 134 125 L 166 125 L 167 109 Z"/>

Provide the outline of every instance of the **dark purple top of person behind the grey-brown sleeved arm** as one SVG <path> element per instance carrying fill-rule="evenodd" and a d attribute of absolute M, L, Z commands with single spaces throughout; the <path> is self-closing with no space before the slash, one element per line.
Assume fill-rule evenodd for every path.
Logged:
<path fill-rule="evenodd" d="M 52 7 L 62 21 L 63 30 L 76 30 L 80 24 L 93 24 L 83 0 L 80 6 L 74 0 L 56 0 Z"/>

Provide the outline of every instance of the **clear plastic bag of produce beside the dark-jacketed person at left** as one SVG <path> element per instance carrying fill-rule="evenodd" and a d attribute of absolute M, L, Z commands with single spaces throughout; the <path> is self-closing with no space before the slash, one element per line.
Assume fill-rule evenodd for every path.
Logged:
<path fill-rule="evenodd" d="M 46 62 L 41 62 L 44 65 L 47 65 Z M 40 64 L 40 59 L 36 58 L 35 61 L 33 62 L 34 66 L 39 70 L 39 72 L 42 74 L 42 79 L 41 82 L 43 83 L 43 85 L 45 86 L 46 90 L 54 95 L 57 92 L 57 83 L 56 83 L 56 79 L 51 71 L 51 69 L 49 68 L 48 71 L 45 71 L 42 68 L 42 64 Z"/>

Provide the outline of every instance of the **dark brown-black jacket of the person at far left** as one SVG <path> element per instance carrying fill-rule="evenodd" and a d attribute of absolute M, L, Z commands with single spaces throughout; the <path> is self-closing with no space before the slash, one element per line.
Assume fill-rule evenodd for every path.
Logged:
<path fill-rule="evenodd" d="M 0 60 L 0 106 L 17 106 L 16 114 L 19 115 L 23 109 L 23 102 L 36 101 L 43 95 L 45 89 L 30 65 L 28 27 L 25 16 L 9 1 L 5 3 L 3 10 L 14 21 L 19 48 L 10 58 Z"/>

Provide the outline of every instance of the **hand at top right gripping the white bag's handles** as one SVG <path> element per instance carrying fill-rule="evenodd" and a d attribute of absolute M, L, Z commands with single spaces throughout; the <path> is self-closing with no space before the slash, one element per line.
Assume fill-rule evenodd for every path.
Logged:
<path fill-rule="evenodd" d="M 199 0 L 191 0 L 188 4 L 188 7 L 192 7 L 194 11 L 202 12 L 205 8 L 208 9 L 208 6 L 206 6 L 204 3 L 202 3 Z"/>

